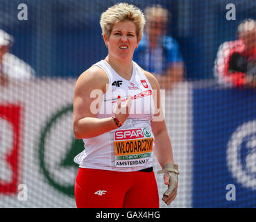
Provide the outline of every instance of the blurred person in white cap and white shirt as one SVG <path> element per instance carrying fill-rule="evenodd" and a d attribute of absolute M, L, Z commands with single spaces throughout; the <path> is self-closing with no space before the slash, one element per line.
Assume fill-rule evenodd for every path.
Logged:
<path fill-rule="evenodd" d="M 9 53 L 13 37 L 0 29 L 0 85 L 8 85 L 9 79 L 28 80 L 35 75 L 26 62 Z"/>

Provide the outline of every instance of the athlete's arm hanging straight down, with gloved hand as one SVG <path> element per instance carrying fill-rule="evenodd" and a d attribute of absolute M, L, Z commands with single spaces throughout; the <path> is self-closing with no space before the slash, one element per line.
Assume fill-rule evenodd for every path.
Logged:
<path fill-rule="evenodd" d="M 144 71 L 149 83 L 153 89 L 153 99 L 155 103 L 155 116 L 151 121 L 151 128 L 155 136 L 154 153 L 164 173 L 164 184 L 168 185 L 167 191 L 164 192 L 162 200 L 167 205 L 176 198 L 178 188 L 178 165 L 174 164 L 171 139 L 169 137 L 167 126 L 163 118 L 160 98 L 160 86 L 155 76 Z"/>

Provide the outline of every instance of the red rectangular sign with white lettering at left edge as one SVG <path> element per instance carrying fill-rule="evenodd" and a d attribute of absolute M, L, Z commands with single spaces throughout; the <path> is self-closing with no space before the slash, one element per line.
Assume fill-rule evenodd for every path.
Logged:
<path fill-rule="evenodd" d="M 17 194 L 21 175 L 22 105 L 0 105 L 0 194 Z"/>

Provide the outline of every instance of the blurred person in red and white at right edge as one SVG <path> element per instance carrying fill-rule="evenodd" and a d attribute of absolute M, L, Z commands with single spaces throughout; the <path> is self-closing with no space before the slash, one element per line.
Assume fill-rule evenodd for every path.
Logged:
<path fill-rule="evenodd" d="M 256 21 L 238 26 L 238 40 L 219 46 L 214 64 L 219 83 L 232 87 L 256 87 Z"/>

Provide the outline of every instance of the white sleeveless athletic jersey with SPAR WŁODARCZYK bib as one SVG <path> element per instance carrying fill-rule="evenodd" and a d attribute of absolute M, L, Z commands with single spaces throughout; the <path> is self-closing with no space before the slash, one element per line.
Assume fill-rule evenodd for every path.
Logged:
<path fill-rule="evenodd" d="M 97 118 L 113 116 L 118 95 L 124 104 L 130 94 L 132 106 L 123 126 L 97 137 L 83 139 L 85 150 L 74 158 L 74 162 L 83 168 L 112 171 L 138 171 L 152 167 L 154 136 L 151 119 L 155 106 L 148 79 L 135 62 L 130 80 L 119 76 L 105 60 L 94 65 L 103 69 L 109 80 Z"/>

